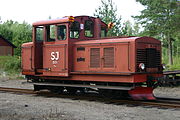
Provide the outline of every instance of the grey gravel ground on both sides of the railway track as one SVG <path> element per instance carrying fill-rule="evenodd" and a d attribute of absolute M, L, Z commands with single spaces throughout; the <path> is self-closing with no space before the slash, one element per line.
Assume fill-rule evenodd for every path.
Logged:
<path fill-rule="evenodd" d="M 32 89 L 25 80 L 0 79 L 0 86 Z M 158 88 L 155 96 L 180 98 L 180 88 Z M 131 107 L 95 101 L 0 92 L 0 120 L 179 120 L 180 110 Z"/>

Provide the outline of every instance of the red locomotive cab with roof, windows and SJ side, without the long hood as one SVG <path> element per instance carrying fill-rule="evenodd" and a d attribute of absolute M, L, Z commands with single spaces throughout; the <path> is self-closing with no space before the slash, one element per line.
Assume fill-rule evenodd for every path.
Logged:
<path fill-rule="evenodd" d="M 31 67 L 23 68 L 25 74 L 47 76 L 69 76 L 72 71 L 72 44 L 77 41 L 106 37 L 107 25 L 99 18 L 88 16 L 64 17 L 57 20 L 40 21 L 33 24 L 32 54 L 24 61 Z M 22 49 L 27 48 L 26 44 Z M 25 60 L 26 59 L 26 60 Z M 31 60 L 31 61 L 30 61 Z M 24 61 L 23 66 L 24 66 Z"/>

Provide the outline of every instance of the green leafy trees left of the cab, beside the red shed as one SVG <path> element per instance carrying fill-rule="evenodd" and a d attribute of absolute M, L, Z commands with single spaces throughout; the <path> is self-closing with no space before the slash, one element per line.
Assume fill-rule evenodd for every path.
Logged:
<path fill-rule="evenodd" d="M 32 39 L 32 27 L 26 22 L 20 24 L 12 20 L 7 20 L 3 24 L 0 24 L 0 34 L 17 46 L 14 54 L 20 56 L 21 45 Z"/>

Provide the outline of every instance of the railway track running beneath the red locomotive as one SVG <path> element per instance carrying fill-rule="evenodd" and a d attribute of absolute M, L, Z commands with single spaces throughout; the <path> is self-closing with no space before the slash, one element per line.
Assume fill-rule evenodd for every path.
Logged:
<path fill-rule="evenodd" d="M 157 100 L 154 101 L 135 101 L 131 99 L 126 99 L 126 100 L 109 99 L 109 98 L 104 98 L 99 94 L 85 94 L 85 95 L 54 94 L 48 91 L 36 92 L 31 89 L 21 89 L 21 88 L 0 87 L 0 91 L 10 92 L 10 93 L 21 93 L 21 94 L 33 94 L 37 96 L 69 98 L 73 100 L 97 101 L 106 104 L 180 109 L 180 99 L 174 99 L 174 98 L 157 98 Z"/>

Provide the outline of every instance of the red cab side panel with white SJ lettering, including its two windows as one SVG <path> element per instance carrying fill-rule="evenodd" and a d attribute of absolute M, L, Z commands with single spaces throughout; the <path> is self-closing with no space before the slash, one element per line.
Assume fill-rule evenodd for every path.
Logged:
<path fill-rule="evenodd" d="M 43 46 L 43 75 L 68 76 L 66 25 L 46 26 L 46 41 Z"/>

